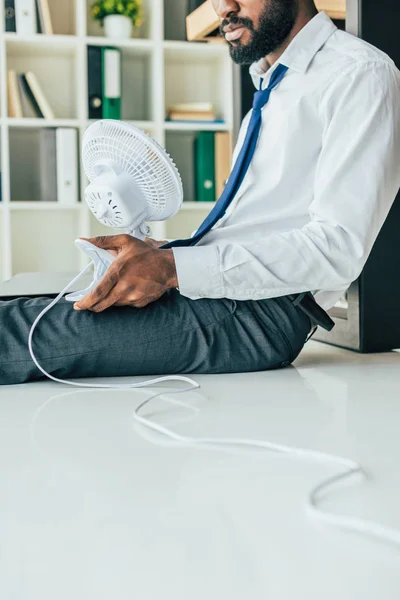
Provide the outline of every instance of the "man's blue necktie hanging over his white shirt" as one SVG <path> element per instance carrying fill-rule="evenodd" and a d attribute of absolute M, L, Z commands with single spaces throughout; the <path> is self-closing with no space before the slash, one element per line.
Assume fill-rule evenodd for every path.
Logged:
<path fill-rule="evenodd" d="M 247 133 L 243 146 L 240 150 L 239 156 L 235 162 L 235 166 L 229 176 L 228 182 L 225 186 L 224 191 L 213 210 L 210 212 L 208 217 L 200 225 L 195 235 L 185 240 L 175 240 L 162 246 L 162 248 L 178 248 L 183 246 L 194 246 L 197 244 L 205 235 L 208 233 L 214 225 L 224 216 L 232 200 L 236 196 L 243 179 L 249 169 L 251 160 L 253 158 L 258 137 L 260 135 L 260 129 L 262 124 L 262 109 L 267 104 L 272 90 L 278 85 L 286 74 L 288 67 L 279 64 L 273 74 L 269 85 L 265 90 L 259 90 L 254 94 L 253 100 L 253 112 L 251 115 L 250 123 L 247 128 Z"/>

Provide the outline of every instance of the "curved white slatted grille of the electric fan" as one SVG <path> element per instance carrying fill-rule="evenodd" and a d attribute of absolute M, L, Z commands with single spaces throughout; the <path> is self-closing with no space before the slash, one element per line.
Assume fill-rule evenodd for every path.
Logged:
<path fill-rule="evenodd" d="M 182 180 L 169 154 L 146 133 L 122 121 L 97 121 L 83 140 L 83 164 L 93 181 L 103 163 L 128 173 L 144 194 L 150 221 L 175 214 L 182 202 Z"/>

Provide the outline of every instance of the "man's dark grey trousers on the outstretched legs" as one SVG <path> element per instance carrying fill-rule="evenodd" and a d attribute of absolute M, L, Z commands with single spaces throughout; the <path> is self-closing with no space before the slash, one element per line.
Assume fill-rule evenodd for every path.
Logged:
<path fill-rule="evenodd" d="M 0 302 L 0 384 L 42 379 L 28 351 L 48 298 Z M 189 300 L 175 289 L 146 308 L 77 312 L 61 300 L 39 323 L 33 347 L 55 377 L 238 373 L 288 366 L 311 322 L 288 297 Z"/>

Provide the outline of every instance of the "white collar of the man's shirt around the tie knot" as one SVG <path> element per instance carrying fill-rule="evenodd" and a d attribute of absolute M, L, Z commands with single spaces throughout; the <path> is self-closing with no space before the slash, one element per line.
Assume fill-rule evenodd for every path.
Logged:
<path fill-rule="evenodd" d="M 269 76 L 272 75 L 278 64 L 286 65 L 298 73 L 305 73 L 314 56 L 336 30 L 336 25 L 324 11 L 318 13 L 293 38 L 272 67 L 268 66 L 265 58 L 251 65 L 250 75 L 255 87 L 259 89 L 260 77 L 264 77 L 267 73 Z M 263 88 L 267 85 L 266 80 L 269 79 L 270 77 L 265 77 Z"/>

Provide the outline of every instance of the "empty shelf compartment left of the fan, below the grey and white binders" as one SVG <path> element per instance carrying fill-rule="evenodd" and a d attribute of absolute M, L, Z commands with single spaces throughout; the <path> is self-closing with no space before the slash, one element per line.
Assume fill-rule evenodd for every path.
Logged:
<path fill-rule="evenodd" d="M 74 245 L 78 235 L 79 213 L 74 211 L 65 210 L 61 219 L 54 211 L 29 211 L 29 216 L 24 211 L 11 213 L 13 274 L 78 270 L 79 252 Z"/>

